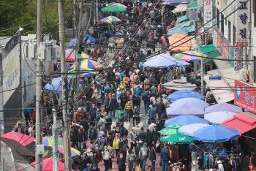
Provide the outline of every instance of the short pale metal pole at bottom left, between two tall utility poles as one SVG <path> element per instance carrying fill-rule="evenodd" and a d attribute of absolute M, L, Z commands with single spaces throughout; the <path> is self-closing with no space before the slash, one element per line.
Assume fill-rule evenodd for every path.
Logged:
<path fill-rule="evenodd" d="M 53 113 L 53 171 L 59 171 L 57 113 Z"/>

